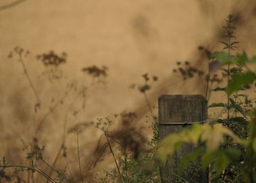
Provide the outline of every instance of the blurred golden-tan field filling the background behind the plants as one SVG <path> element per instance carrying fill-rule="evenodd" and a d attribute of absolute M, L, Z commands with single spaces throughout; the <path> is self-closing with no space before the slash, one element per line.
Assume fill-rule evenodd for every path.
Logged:
<path fill-rule="evenodd" d="M 189 61 L 205 71 L 208 60 L 197 47 L 222 49 L 220 35 L 229 14 L 236 17 L 235 34 L 241 42 L 238 52 L 256 54 L 255 1 L 26 0 L 5 7 L 12 2 L 15 3 L 0 0 L 0 157 L 7 157 L 10 163 L 27 163 L 20 139 L 29 144 L 34 136 L 45 145 L 45 159 L 52 163 L 64 133 L 83 122 L 86 129 L 80 133 L 82 169 L 85 174 L 94 174 L 96 169 L 88 170 L 86 165 L 93 158 L 99 139 L 105 139 L 91 121 L 113 119 L 121 112 L 135 112 L 137 120 L 132 125 L 150 139 L 148 106 L 137 88 L 144 82 L 141 75 L 158 77 L 147 92 L 152 106 L 157 106 L 162 94 L 204 95 L 203 77 L 184 81 L 173 69 L 176 61 Z M 17 55 L 8 57 L 15 47 L 29 50 L 23 63 L 39 97 L 37 112 L 37 98 L 22 64 Z M 67 63 L 57 68 L 59 79 L 49 79 L 46 71 L 50 67 L 37 61 L 37 55 L 50 50 L 59 55 L 67 53 Z M 108 76 L 93 78 L 82 71 L 88 66 L 106 66 Z M 132 84 L 134 89 L 130 88 Z M 69 90 L 67 85 L 77 90 Z M 82 96 L 84 87 L 86 95 Z M 209 103 L 220 98 L 211 97 Z M 153 110 L 157 114 L 157 108 Z M 35 132 L 40 121 L 42 128 Z M 115 121 L 116 126 L 119 121 Z M 67 158 L 59 157 L 56 163 L 69 163 L 74 176 L 78 174 L 76 138 L 75 133 L 68 133 Z M 105 155 L 96 167 L 97 171 L 113 167 L 113 159 Z M 37 181 L 41 178 L 37 177 Z"/>

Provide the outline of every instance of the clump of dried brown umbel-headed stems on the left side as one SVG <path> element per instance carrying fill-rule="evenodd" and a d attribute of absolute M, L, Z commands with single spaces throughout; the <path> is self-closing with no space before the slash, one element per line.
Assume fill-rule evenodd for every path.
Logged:
<path fill-rule="evenodd" d="M 61 66 L 64 63 L 67 63 L 67 53 L 62 52 L 61 54 L 57 54 L 54 51 L 42 53 L 36 56 L 36 60 L 44 66 L 44 71 L 38 75 L 38 77 L 34 77 L 29 72 L 29 63 L 26 61 L 30 55 L 29 50 L 25 50 L 22 47 L 15 47 L 9 54 L 9 58 L 17 58 L 18 63 L 22 66 L 23 74 L 26 80 L 29 82 L 29 86 L 31 91 L 35 96 L 35 104 L 34 104 L 34 122 L 31 122 L 32 130 L 34 131 L 31 136 L 31 142 L 29 146 L 23 143 L 24 152 L 26 152 L 26 163 L 21 164 L 12 164 L 8 163 L 6 158 L 1 162 L 1 174 L 0 181 L 2 179 L 6 179 L 7 181 L 14 181 L 14 179 L 19 179 L 21 182 L 37 182 L 38 179 L 42 176 L 47 179 L 47 182 L 75 182 L 78 177 L 72 176 L 74 172 L 80 172 L 80 179 L 85 179 L 86 176 L 82 172 L 82 162 L 80 160 L 80 143 L 79 143 L 79 134 L 83 133 L 85 128 L 91 126 L 90 122 L 78 122 L 75 125 L 68 124 L 68 116 L 72 114 L 72 116 L 76 119 L 79 114 L 83 114 L 86 109 L 86 97 L 88 93 L 88 88 L 83 84 L 78 82 L 68 82 L 67 76 L 61 69 Z M 98 67 L 98 66 L 87 66 L 81 69 L 81 71 L 92 77 L 94 82 L 92 84 L 97 84 L 99 82 L 105 83 L 105 78 L 108 76 L 108 68 L 106 66 Z M 34 83 L 37 82 L 37 78 L 44 79 L 50 82 L 50 85 L 56 85 L 58 82 L 67 82 L 67 88 L 64 90 L 63 96 L 59 96 L 59 98 L 52 97 L 50 101 L 50 105 L 47 106 L 47 102 L 45 98 L 42 98 L 41 91 L 37 89 L 37 85 Z M 73 98 L 69 101 L 69 98 Z M 80 106 L 80 109 L 75 109 L 74 106 Z M 47 142 L 42 143 L 40 136 L 45 127 L 48 127 L 48 120 L 50 115 L 56 112 L 59 107 L 66 106 L 66 112 L 64 114 L 64 122 L 63 122 L 63 136 L 61 141 L 59 141 L 59 150 L 54 157 L 53 162 L 48 163 L 47 160 L 48 155 L 43 156 L 43 152 L 45 148 L 47 148 Z M 45 112 L 46 111 L 46 112 Z M 45 112 L 43 114 L 43 112 Z M 67 138 L 70 134 L 77 134 L 77 155 L 78 155 L 78 170 L 72 169 L 69 167 L 69 160 L 67 159 Z M 45 144 L 46 143 L 46 144 Z M 39 147 L 39 144 L 44 144 Z M 64 163 L 65 162 L 65 163 Z M 61 165 L 61 167 L 65 167 L 63 170 L 61 168 L 57 168 Z M 15 171 L 12 171 L 14 169 Z M 7 171 L 8 169 L 8 171 Z M 28 175 L 25 179 L 25 174 L 20 174 L 19 172 L 26 172 Z M 67 175 L 67 171 L 69 172 L 69 176 Z M 39 176 L 41 175 L 41 176 Z"/>

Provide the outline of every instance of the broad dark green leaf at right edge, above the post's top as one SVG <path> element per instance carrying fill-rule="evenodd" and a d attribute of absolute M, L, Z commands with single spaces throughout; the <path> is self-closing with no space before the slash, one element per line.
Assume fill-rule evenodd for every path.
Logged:
<path fill-rule="evenodd" d="M 236 90 L 240 90 L 243 85 L 252 84 L 255 78 L 255 74 L 250 71 L 241 74 L 233 74 L 231 76 L 232 82 L 227 86 L 227 95 L 230 96 Z"/>

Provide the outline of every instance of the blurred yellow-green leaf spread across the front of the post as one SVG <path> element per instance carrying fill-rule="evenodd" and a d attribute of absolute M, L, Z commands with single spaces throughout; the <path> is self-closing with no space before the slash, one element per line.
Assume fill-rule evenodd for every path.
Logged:
<path fill-rule="evenodd" d="M 230 136 L 236 143 L 244 144 L 238 136 L 236 136 L 230 129 L 222 124 L 211 126 L 209 123 L 203 125 L 193 125 L 191 129 L 184 130 L 181 133 L 173 133 L 159 142 L 158 157 L 162 163 L 165 163 L 173 152 L 181 147 L 184 143 L 198 144 L 203 142 L 206 144 L 206 152 L 215 152 L 225 140 L 224 136 Z"/>

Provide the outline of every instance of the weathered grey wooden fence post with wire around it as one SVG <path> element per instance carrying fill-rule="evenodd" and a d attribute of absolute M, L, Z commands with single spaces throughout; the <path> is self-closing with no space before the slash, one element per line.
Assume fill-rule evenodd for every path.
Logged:
<path fill-rule="evenodd" d="M 184 128 L 189 128 L 193 122 L 203 123 L 207 117 L 207 101 L 203 96 L 160 96 L 159 97 L 159 138 L 163 139 L 170 133 L 179 133 Z M 207 182 L 206 171 L 195 165 L 193 171 L 185 171 L 184 179 L 178 181 L 178 160 L 187 152 L 192 152 L 196 147 L 184 145 L 175 153 L 173 160 L 168 160 L 160 168 L 162 183 L 167 182 Z"/>

